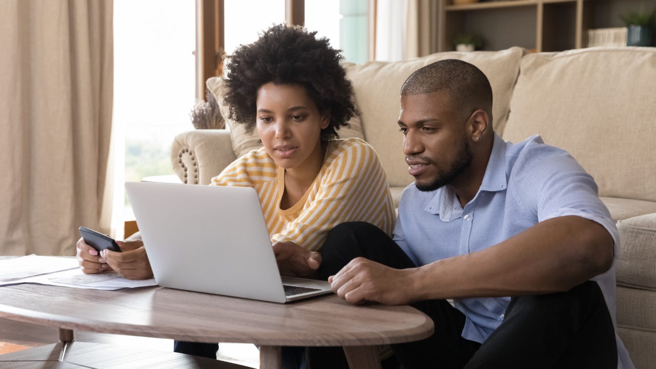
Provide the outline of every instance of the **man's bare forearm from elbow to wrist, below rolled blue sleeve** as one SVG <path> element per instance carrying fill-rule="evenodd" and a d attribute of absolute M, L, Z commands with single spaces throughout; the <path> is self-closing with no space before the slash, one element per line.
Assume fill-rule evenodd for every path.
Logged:
<path fill-rule="evenodd" d="M 566 291 L 607 271 L 613 238 L 581 217 L 548 219 L 485 250 L 413 271 L 417 300 Z"/>

